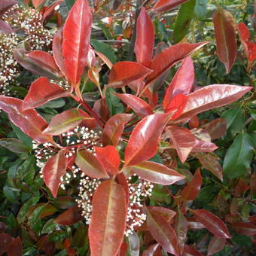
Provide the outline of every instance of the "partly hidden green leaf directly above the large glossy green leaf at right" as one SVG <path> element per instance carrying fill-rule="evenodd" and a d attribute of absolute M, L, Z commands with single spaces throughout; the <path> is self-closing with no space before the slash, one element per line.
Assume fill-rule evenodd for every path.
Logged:
<path fill-rule="evenodd" d="M 227 130 L 232 136 L 242 132 L 245 122 L 245 113 L 242 106 L 228 109 L 221 115 L 221 117 L 227 120 Z"/>

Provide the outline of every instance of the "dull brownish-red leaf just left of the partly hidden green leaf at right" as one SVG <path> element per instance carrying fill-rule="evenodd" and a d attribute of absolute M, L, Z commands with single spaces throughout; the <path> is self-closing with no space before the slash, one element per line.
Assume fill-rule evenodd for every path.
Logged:
<path fill-rule="evenodd" d="M 219 139 L 227 132 L 227 120 L 224 118 L 212 120 L 211 123 L 207 123 L 204 129 L 209 133 L 211 139 Z"/>

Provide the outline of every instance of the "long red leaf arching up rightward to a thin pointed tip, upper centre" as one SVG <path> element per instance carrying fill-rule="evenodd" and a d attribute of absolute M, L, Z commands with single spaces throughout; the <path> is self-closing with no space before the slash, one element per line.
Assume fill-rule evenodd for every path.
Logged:
<path fill-rule="evenodd" d="M 160 75 L 169 70 L 176 62 L 190 56 L 207 42 L 197 44 L 175 44 L 158 53 L 151 62 L 153 72 L 147 77 L 147 84 L 151 84 Z"/>

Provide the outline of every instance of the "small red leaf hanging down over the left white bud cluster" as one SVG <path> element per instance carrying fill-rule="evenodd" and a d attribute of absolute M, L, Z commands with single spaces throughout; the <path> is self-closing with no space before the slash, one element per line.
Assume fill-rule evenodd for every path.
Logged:
<path fill-rule="evenodd" d="M 50 189 L 53 197 L 56 197 L 58 194 L 60 178 L 64 174 L 67 168 L 67 159 L 63 151 L 59 151 L 57 154 L 50 157 L 49 160 L 45 163 L 42 171 L 44 176 L 44 183 Z"/>

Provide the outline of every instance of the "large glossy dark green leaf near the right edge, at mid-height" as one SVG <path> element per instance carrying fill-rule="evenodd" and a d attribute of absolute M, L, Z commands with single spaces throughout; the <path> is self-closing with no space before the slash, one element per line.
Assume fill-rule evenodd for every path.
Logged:
<path fill-rule="evenodd" d="M 245 175 L 250 167 L 252 156 L 253 145 L 250 137 L 246 133 L 239 134 L 227 150 L 224 158 L 224 175 L 227 178 Z"/>

